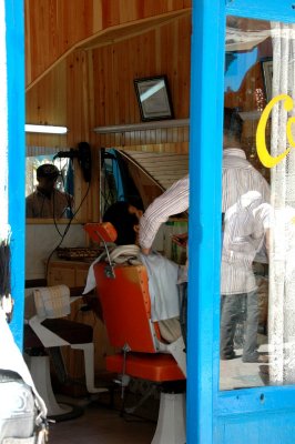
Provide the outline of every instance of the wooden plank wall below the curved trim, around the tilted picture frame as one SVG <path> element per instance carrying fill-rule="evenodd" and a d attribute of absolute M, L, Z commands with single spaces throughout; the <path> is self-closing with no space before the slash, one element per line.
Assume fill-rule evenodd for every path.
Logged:
<path fill-rule="evenodd" d="M 186 142 L 187 129 L 94 137 L 93 128 L 139 123 L 133 80 L 166 74 L 175 119 L 189 118 L 191 16 L 115 44 L 77 49 L 27 92 L 27 122 L 60 124 L 67 137 L 27 137 L 28 144 L 73 145 L 77 141 L 105 144 Z M 180 50 L 181 48 L 181 50 Z M 185 50 L 184 50 L 185 49 Z"/>

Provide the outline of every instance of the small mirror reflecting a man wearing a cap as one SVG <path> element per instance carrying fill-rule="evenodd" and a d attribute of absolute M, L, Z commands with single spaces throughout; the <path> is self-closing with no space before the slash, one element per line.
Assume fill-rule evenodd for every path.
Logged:
<path fill-rule="evenodd" d="M 70 219 L 73 215 L 74 175 L 70 159 L 54 161 L 55 153 L 27 157 L 27 218 Z"/>

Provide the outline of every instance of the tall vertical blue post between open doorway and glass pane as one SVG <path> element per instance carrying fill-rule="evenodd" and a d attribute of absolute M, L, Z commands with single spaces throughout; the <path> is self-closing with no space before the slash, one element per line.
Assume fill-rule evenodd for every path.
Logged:
<path fill-rule="evenodd" d="M 187 443 L 213 443 L 218 383 L 225 1 L 193 2 Z M 215 312 L 215 320 L 213 313 Z"/>

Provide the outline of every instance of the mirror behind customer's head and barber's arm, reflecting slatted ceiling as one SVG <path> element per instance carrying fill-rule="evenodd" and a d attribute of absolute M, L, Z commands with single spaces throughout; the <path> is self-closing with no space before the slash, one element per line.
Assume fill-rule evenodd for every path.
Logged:
<path fill-rule="evenodd" d="M 126 201 L 145 210 L 174 182 L 187 175 L 189 154 L 102 149 L 101 153 L 101 214 L 116 201 Z M 187 214 L 179 214 L 162 224 L 154 250 L 183 264 L 185 249 L 172 242 L 173 236 L 187 232 Z"/>

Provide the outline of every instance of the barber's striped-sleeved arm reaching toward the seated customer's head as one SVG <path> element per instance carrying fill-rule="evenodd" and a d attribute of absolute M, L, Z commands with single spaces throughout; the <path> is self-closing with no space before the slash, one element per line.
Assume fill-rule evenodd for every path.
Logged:
<path fill-rule="evenodd" d="M 189 209 L 189 176 L 173 183 L 160 198 L 146 209 L 140 221 L 140 245 L 149 254 L 160 225 L 173 214 Z"/>

